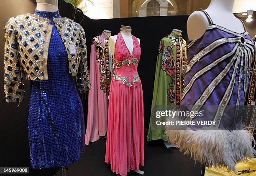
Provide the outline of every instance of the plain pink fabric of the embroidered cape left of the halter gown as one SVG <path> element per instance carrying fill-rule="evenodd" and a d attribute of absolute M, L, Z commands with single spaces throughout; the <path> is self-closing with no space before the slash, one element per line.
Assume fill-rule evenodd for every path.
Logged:
<path fill-rule="evenodd" d="M 105 39 L 108 39 L 108 36 L 104 34 L 98 39 L 103 50 L 105 50 Z M 97 141 L 100 139 L 100 136 L 105 136 L 108 124 L 108 95 L 100 89 L 100 63 L 97 62 L 99 52 L 95 50 L 97 44 L 97 42 L 93 42 L 90 55 L 90 81 L 92 89 L 89 90 L 88 99 L 87 128 L 85 133 L 86 145 Z M 103 57 L 105 62 L 105 55 Z"/>

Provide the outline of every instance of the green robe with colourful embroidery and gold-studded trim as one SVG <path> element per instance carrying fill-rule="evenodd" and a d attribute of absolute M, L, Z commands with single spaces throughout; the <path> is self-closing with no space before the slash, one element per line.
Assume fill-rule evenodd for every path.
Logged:
<path fill-rule="evenodd" d="M 160 41 L 156 63 L 152 107 L 156 105 L 179 105 L 187 67 L 187 43 L 174 32 Z M 151 111 L 147 141 L 167 141 L 164 129 L 154 129 L 155 114 Z"/>

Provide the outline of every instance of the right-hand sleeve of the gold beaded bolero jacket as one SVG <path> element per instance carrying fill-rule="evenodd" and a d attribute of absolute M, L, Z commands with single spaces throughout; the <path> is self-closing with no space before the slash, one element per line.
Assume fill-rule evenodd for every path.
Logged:
<path fill-rule="evenodd" d="M 82 27 L 80 27 L 80 43 L 79 47 L 82 48 L 82 52 L 79 53 L 80 63 L 77 74 L 77 86 L 80 93 L 85 93 L 86 91 L 92 89 L 89 77 L 89 71 L 87 66 L 87 47 L 85 33 Z"/>

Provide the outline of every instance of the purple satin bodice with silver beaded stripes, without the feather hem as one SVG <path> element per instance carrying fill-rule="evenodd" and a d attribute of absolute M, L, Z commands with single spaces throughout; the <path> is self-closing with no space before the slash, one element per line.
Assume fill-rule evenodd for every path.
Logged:
<path fill-rule="evenodd" d="M 237 105 L 245 102 L 254 43 L 248 32 L 238 34 L 214 25 L 202 12 L 210 25 L 188 45 L 181 104 L 193 105 L 191 111 L 208 106 L 203 120 L 216 121 L 212 126 L 220 129 L 240 129 L 242 109 Z"/>

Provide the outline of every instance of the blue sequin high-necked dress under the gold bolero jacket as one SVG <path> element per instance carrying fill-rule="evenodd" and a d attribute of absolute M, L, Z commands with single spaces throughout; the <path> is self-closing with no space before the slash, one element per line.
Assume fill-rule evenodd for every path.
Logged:
<path fill-rule="evenodd" d="M 54 25 L 59 12 L 35 12 L 53 25 L 47 60 L 48 80 L 31 81 L 28 133 L 34 169 L 67 166 L 84 151 L 84 116 L 68 55 Z"/>

